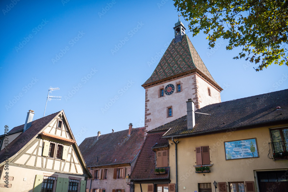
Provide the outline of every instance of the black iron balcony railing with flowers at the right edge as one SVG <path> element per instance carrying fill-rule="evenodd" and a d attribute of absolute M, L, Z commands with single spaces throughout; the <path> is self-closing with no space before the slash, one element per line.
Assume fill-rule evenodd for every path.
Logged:
<path fill-rule="evenodd" d="M 288 159 L 288 141 L 269 143 L 269 159 Z"/>

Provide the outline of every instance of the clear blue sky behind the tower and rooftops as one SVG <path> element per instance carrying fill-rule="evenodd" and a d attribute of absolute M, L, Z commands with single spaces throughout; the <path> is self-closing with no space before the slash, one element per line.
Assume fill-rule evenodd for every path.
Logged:
<path fill-rule="evenodd" d="M 158 64 L 157 53 L 174 38 L 178 13 L 172 0 L 16 2 L 0 3 L 0 134 L 5 125 L 24 124 L 29 109 L 34 120 L 43 117 L 49 86 L 60 88 L 50 95 L 62 100 L 48 101 L 45 115 L 64 109 L 78 144 L 98 131 L 144 125 L 141 85 Z M 227 41 L 209 50 L 205 35 L 187 35 L 224 89 L 222 101 L 288 88 L 287 66 L 256 72 L 255 64 L 232 59 L 239 50 L 227 51 Z M 118 100 L 103 113 L 115 96 Z M 10 101 L 13 106 L 7 108 Z"/>

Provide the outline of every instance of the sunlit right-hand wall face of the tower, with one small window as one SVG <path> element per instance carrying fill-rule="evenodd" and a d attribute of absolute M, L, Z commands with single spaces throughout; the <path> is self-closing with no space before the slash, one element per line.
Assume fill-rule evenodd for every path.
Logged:
<path fill-rule="evenodd" d="M 206 105 L 221 102 L 220 91 L 217 88 L 202 79 L 199 75 L 196 75 L 196 83 L 199 109 Z M 208 87 L 210 88 L 211 96 L 208 94 Z"/>

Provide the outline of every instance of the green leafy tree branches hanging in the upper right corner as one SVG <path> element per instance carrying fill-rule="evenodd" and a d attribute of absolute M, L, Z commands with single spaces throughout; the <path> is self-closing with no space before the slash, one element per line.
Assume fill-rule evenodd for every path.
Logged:
<path fill-rule="evenodd" d="M 229 39 L 227 50 L 243 47 L 233 58 L 259 63 L 256 71 L 288 65 L 288 0 L 174 1 L 193 36 L 207 34 L 210 47 L 219 38 Z"/>

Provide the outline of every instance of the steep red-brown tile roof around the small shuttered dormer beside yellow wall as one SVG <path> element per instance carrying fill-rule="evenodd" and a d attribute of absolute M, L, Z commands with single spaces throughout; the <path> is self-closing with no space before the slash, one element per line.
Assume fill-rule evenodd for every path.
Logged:
<path fill-rule="evenodd" d="M 152 147 L 158 143 L 159 145 L 169 145 L 168 140 L 162 138 L 165 132 L 149 133 L 146 136 L 143 148 L 139 154 L 137 162 L 134 166 L 131 174 L 131 179 L 168 179 L 169 169 L 166 168 L 166 174 L 154 174 L 155 169 L 155 152 L 152 151 Z"/>

